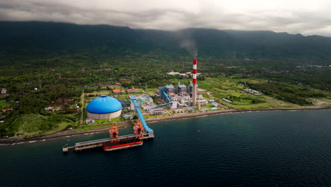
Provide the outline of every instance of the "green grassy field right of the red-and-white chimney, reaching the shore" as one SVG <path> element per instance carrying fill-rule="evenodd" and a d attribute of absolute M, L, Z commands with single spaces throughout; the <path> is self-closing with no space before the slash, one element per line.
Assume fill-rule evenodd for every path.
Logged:
<path fill-rule="evenodd" d="M 281 96 L 283 96 L 285 91 L 288 91 L 290 93 L 298 93 L 298 95 L 292 94 L 287 99 L 284 99 L 276 95 L 269 95 L 267 94 L 267 91 L 262 89 L 262 87 L 255 87 L 253 85 L 267 86 L 267 88 L 269 88 L 270 90 L 277 91 L 277 93 Z M 265 79 L 237 79 L 236 77 L 232 77 L 232 79 L 228 77 L 208 78 L 204 81 L 199 81 L 199 87 L 210 91 L 209 94 L 203 94 L 206 98 L 215 98 L 216 101 L 219 101 L 219 103 L 221 103 L 223 106 L 236 110 L 302 108 L 300 106 L 300 103 L 296 103 L 296 98 L 304 98 L 306 99 L 305 101 L 311 102 L 309 105 L 303 104 L 303 107 L 308 107 L 315 103 L 322 103 L 321 105 L 318 105 L 318 107 L 330 106 L 330 100 L 326 99 L 330 98 L 329 92 L 315 91 L 307 87 L 295 86 L 291 84 L 275 83 L 273 81 L 267 81 Z M 248 87 L 257 91 L 262 91 L 263 94 L 260 96 L 255 96 L 242 91 L 243 89 Z M 280 91 L 279 89 L 284 90 Z M 272 96 L 273 98 L 270 96 Z M 323 101 L 323 97 L 326 99 L 326 101 Z M 226 103 L 225 101 L 221 101 L 222 98 L 227 98 L 228 100 L 232 101 L 232 103 Z"/>

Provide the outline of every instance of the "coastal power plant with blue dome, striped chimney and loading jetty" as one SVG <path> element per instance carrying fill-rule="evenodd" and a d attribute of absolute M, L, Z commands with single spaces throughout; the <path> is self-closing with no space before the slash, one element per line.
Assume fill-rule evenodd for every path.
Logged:
<path fill-rule="evenodd" d="M 122 114 L 122 104 L 127 106 L 130 103 L 131 113 L 136 113 L 137 123 L 134 124 L 134 134 L 119 136 L 117 124 L 113 124 L 110 128 L 110 137 L 100 140 L 92 140 L 87 142 L 78 142 L 71 147 L 63 147 L 63 152 L 68 152 L 69 149 L 76 151 L 83 149 L 91 149 L 93 147 L 103 147 L 105 151 L 113 151 L 117 149 L 127 149 L 129 147 L 136 147 L 143 144 L 143 140 L 153 138 L 153 130 L 149 128 L 144 120 L 144 115 L 164 115 L 167 113 L 163 106 L 170 106 L 173 113 L 184 113 L 185 111 L 194 111 L 197 107 L 200 110 L 201 106 L 206 106 L 206 101 L 202 94 L 197 92 L 197 58 L 193 60 L 192 84 L 186 86 L 180 84 L 175 87 L 172 84 L 160 86 L 156 91 L 156 96 L 165 103 L 161 105 L 153 105 L 153 99 L 146 94 L 129 95 L 129 101 L 125 101 L 110 96 L 100 96 L 94 98 L 86 108 L 88 118 L 93 120 L 111 120 L 117 118 Z M 206 108 L 203 108 L 206 109 Z M 125 109 L 124 109 L 125 110 Z"/>

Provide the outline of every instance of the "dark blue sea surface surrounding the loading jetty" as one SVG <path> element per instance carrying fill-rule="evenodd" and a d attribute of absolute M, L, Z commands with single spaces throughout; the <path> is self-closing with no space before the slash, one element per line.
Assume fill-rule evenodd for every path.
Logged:
<path fill-rule="evenodd" d="M 0 146 L 0 186 L 331 186 L 331 109 L 149 125 L 154 140 L 116 152 L 62 153 L 108 132 Z"/>

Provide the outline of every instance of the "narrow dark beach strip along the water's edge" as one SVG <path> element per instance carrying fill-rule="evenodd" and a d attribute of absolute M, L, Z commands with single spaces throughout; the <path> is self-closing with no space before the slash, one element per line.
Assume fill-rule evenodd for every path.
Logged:
<path fill-rule="evenodd" d="M 189 113 L 189 114 L 178 114 L 178 115 L 171 115 L 171 116 L 164 116 L 164 117 L 159 117 L 159 118 L 147 118 L 145 119 L 146 123 L 156 123 L 156 122 L 161 122 L 161 121 L 169 121 L 169 120 L 180 120 L 180 119 L 188 119 L 188 118 L 200 118 L 200 117 L 206 117 L 208 115 L 219 115 L 219 114 L 227 114 L 227 113 L 249 113 L 249 112 L 260 112 L 260 111 L 306 111 L 306 110 L 324 110 L 324 109 L 330 109 L 331 107 L 328 108 L 296 108 L 296 109 L 291 109 L 291 108 L 270 108 L 270 109 L 259 109 L 259 110 L 243 110 L 243 111 L 237 111 L 237 110 L 226 110 L 226 111 L 209 111 L 209 112 L 203 112 L 203 113 Z M 123 125 L 118 125 L 119 129 L 122 128 L 127 128 L 131 127 L 132 125 L 130 124 L 123 124 Z M 37 141 L 45 141 L 45 140 L 53 140 L 57 138 L 64 138 L 64 137 L 72 137 L 72 136 L 77 136 L 77 135 L 85 135 L 85 134 L 94 134 L 94 133 L 99 133 L 99 132 L 105 132 L 108 130 L 107 128 L 98 128 L 95 130 L 62 130 L 59 132 L 56 132 L 52 135 L 40 135 L 36 137 L 28 137 L 28 138 L 23 138 L 20 140 L 15 140 L 15 139 L 3 139 L 0 140 L 0 146 L 1 145 L 16 145 L 16 144 L 21 144 L 24 142 L 37 142 Z"/>

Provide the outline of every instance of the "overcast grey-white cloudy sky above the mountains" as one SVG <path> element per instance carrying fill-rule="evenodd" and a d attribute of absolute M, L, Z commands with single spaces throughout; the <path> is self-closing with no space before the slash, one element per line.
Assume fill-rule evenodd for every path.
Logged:
<path fill-rule="evenodd" d="M 0 0 L 0 20 L 331 36 L 330 8 L 330 0 Z"/>

